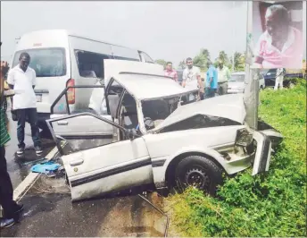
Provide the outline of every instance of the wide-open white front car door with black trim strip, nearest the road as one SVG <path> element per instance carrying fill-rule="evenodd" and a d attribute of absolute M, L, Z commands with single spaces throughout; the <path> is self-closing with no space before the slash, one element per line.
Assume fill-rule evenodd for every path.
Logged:
<path fill-rule="evenodd" d="M 84 132 L 74 132 L 74 140 L 67 139 L 67 134 L 54 126 L 63 121 L 69 125 L 85 115 L 89 124 Z M 152 163 L 143 137 L 133 140 L 120 138 L 120 131 L 127 134 L 127 130 L 90 113 L 55 117 L 46 122 L 61 153 L 71 188 L 71 200 L 85 200 L 111 191 L 153 183 Z M 88 138 L 87 132 L 94 132 L 98 123 L 100 132 L 112 132 L 112 138 L 104 138 L 100 143 L 97 143 L 97 138 Z M 84 140 L 85 145 L 82 147 L 78 140 Z M 65 141 L 64 147 L 61 141 Z"/>

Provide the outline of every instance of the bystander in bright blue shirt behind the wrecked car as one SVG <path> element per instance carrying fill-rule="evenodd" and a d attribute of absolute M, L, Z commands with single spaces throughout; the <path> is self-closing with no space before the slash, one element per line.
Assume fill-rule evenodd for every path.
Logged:
<path fill-rule="evenodd" d="M 204 89 L 204 98 L 213 98 L 218 89 L 218 71 L 210 61 L 208 61 L 207 66 L 208 71 Z"/>

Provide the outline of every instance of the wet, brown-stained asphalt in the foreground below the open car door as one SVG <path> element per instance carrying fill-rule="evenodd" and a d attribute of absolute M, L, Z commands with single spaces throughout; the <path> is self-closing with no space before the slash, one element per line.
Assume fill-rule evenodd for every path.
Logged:
<path fill-rule="evenodd" d="M 25 209 L 20 223 L 5 228 L 0 236 L 162 237 L 166 218 L 137 193 L 72 203 L 62 177 L 41 175 L 21 199 Z M 155 192 L 148 193 L 146 198 L 162 208 L 162 198 Z"/>

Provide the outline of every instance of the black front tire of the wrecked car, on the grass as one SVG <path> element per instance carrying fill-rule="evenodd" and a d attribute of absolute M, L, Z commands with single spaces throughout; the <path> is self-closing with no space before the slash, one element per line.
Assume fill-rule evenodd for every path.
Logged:
<path fill-rule="evenodd" d="M 175 179 L 179 191 L 195 186 L 215 196 L 217 186 L 222 183 L 222 170 L 206 157 L 190 156 L 179 162 Z"/>

